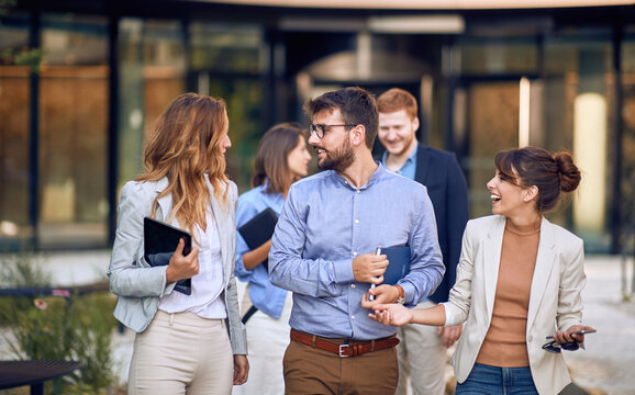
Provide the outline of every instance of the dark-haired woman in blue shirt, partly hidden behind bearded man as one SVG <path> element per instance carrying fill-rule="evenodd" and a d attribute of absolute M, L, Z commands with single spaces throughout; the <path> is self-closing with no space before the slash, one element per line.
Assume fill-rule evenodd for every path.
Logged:
<path fill-rule="evenodd" d="M 278 215 L 293 182 L 308 174 L 311 155 L 302 131 L 292 124 L 271 127 L 258 145 L 253 189 L 241 195 L 236 224 L 241 227 L 265 208 Z M 271 240 L 249 249 L 238 235 L 236 275 L 248 282 L 247 292 L 253 304 L 246 320 L 249 381 L 239 391 L 247 394 L 283 394 L 282 357 L 289 345 L 291 293 L 269 281 L 266 264 Z"/>

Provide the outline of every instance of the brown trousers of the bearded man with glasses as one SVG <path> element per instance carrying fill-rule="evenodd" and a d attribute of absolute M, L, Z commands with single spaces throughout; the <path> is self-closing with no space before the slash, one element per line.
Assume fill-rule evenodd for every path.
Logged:
<path fill-rule="evenodd" d="M 283 359 L 285 393 L 289 395 L 389 395 L 399 379 L 394 347 L 358 357 L 291 341 Z"/>

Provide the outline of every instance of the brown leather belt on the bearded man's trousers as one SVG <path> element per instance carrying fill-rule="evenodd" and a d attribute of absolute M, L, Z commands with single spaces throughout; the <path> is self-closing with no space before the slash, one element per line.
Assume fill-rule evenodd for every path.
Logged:
<path fill-rule="evenodd" d="M 357 357 L 371 351 L 385 350 L 399 343 L 399 339 L 394 336 L 377 340 L 327 339 L 296 329 L 291 329 L 291 340 L 321 350 L 331 351 L 342 358 Z"/>

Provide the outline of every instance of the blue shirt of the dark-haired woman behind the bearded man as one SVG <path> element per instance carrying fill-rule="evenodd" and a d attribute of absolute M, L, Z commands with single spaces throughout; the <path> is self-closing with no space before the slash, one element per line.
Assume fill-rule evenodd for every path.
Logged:
<path fill-rule="evenodd" d="M 280 215 L 285 196 L 281 193 L 265 193 L 265 188 L 266 185 L 256 187 L 238 198 L 236 227 L 243 226 L 267 207 Z M 254 306 L 271 317 L 280 318 L 288 291 L 271 284 L 267 269 L 263 264 L 258 264 L 253 270 L 245 269 L 243 253 L 250 251 L 250 248 L 239 233 L 236 242 L 236 270 L 234 273 L 241 281 L 249 283 L 249 298 Z"/>

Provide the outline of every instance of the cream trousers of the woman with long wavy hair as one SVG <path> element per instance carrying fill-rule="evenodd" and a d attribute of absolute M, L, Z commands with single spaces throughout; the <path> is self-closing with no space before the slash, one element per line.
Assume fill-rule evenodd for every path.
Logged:
<path fill-rule="evenodd" d="M 158 311 L 136 334 L 129 395 L 226 395 L 234 358 L 223 319 Z"/>

